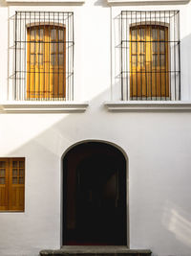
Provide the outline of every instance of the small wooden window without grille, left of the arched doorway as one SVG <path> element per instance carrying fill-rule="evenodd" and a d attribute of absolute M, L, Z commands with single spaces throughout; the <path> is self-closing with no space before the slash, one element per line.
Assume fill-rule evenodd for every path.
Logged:
<path fill-rule="evenodd" d="M 0 211 L 24 211 L 25 158 L 0 158 Z"/>

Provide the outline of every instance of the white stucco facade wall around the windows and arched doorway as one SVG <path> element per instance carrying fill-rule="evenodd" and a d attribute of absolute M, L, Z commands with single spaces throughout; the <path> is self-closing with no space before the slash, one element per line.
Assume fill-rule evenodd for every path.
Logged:
<path fill-rule="evenodd" d="M 113 9 L 117 12 L 119 7 Z M 191 99 L 191 5 L 125 6 L 180 10 L 181 88 Z M 111 99 L 111 10 L 105 1 L 82 6 L 8 6 L 0 1 L 0 92 L 8 84 L 8 17 L 15 10 L 74 11 L 74 87 L 84 113 L 0 114 L 0 156 L 26 157 L 25 212 L 0 213 L 0 255 L 32 256 L 61 244 L 61 157 L 82 140 L 121 147 L 129 159 L 130 248 L 158 256 L 190 256 L 191 112 L 108 112 Z"/>

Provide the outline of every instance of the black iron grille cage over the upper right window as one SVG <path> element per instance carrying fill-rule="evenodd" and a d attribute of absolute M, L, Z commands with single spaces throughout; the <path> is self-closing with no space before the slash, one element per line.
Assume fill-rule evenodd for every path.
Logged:
<path fill-rule="evenodd" d="M 180 100 L 179 11 L 117 16 L 121 100 Z"/>

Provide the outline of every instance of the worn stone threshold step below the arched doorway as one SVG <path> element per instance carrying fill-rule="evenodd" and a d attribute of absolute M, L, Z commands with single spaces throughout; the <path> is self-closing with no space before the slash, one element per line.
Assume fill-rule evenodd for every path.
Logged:
<path fill-rule="evenodd" d="M 126 246 L 63 246 L 57 250 L 41 250 L 40 256 L 150 256 L 150 249 L 129 249 Z"/>

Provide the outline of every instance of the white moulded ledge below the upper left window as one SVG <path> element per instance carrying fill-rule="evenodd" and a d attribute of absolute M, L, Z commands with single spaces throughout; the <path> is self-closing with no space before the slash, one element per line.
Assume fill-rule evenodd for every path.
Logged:
<path fill-rule="evenodd" d="M 0 113 L 70 113 L 84 112 L 88 102 L 4 102 L 0 103 Z"/>

